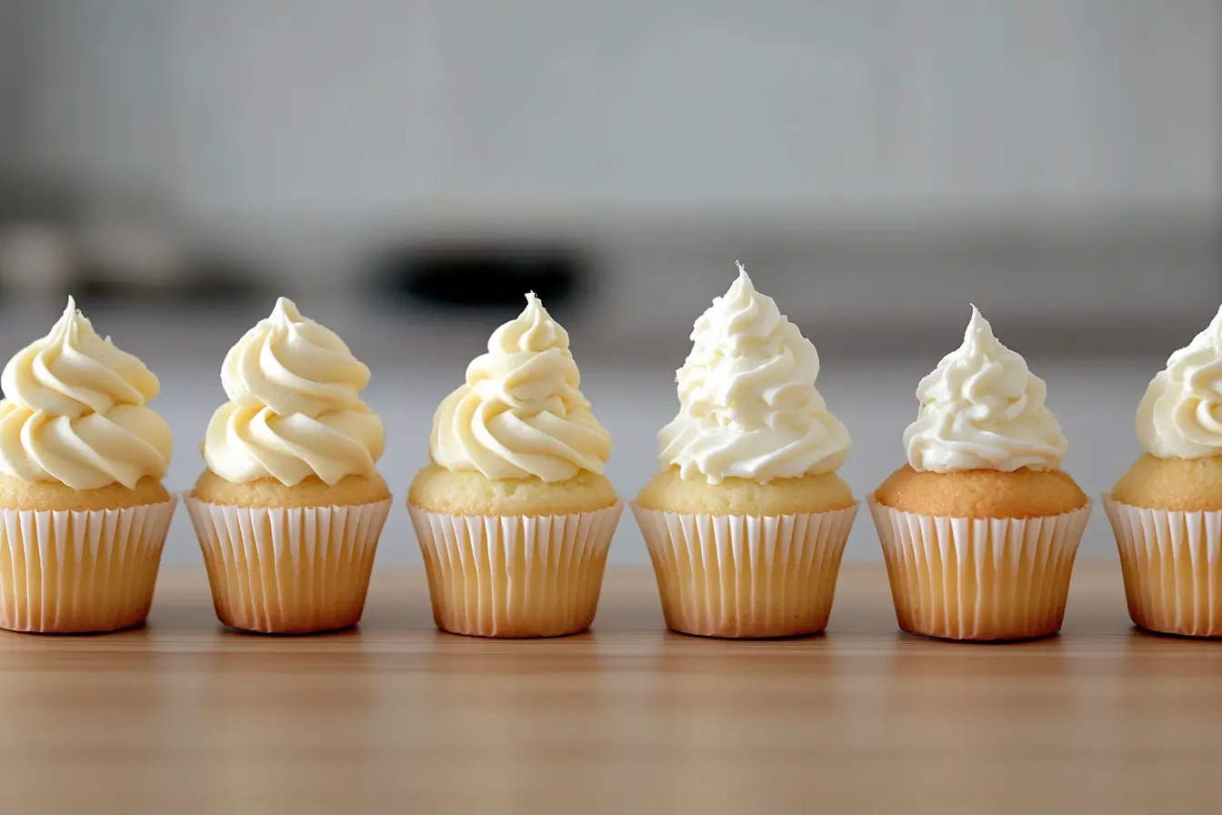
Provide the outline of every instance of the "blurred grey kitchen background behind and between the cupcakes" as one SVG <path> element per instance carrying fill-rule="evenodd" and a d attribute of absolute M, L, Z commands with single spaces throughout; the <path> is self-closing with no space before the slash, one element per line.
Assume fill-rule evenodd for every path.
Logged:
<path fill-rule="evenodd" d="M 1209 0 L 0 0 L 0 356 L 73 292 L 161 378 L 187 489 L 286 294 L 373 368 L 402 496 L 533 288 L 632 495 L 742 259 L 819 347 L 859 494 L 969 302 L 1097 494 L 1222 302 L 1220 86 Z M 612 552 L 646 561 L 631 518 Z M 166 557 L 198 562 L 185 513 Z M 419 562 L 404 511 L 379 558 Z"/>

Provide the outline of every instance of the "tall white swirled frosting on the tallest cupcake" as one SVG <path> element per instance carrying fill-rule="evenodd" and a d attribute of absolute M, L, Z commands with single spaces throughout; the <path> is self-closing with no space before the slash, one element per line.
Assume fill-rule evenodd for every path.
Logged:
<path fill-rule="evenodd" d="M 848 430 L 815 390 L 819 352 L 742 264 L 695 321 L 692 343 L 677 373 L 678 415 L 659 433 L 664 468 L 710 484 L 766 483 L 844 463 Z"/>

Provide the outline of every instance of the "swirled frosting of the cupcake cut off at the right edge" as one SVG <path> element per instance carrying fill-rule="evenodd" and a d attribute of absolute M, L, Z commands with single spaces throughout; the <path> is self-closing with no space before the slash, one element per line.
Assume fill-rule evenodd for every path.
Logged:
<path fill-rule="evenodd" d="M 1222 309 L 1150 381 L 1136 424 L 1158 458 L 1222 456 Z"/>

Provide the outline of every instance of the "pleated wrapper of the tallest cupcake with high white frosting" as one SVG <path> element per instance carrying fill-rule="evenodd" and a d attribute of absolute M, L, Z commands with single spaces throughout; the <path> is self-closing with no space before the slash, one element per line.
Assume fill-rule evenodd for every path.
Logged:
<path fill-rule="evenodd" d="M 857 505 L 759 517 L 632 510 L 668 628 L 765 638 L 814 634 L 827 626 Z"/>

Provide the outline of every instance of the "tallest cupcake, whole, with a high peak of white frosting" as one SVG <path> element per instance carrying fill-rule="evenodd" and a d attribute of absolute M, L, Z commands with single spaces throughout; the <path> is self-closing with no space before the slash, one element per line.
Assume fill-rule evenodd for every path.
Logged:
<path fill-rule="evenodd" d="M 738 280 L 692 331 L 679 412 L 633 512 L 666 624 L 730 638 L 827 626 L 857 501 L 836 474 L 844 425 L 815 390 L 819 353 Z"/>

